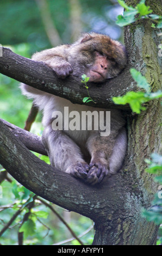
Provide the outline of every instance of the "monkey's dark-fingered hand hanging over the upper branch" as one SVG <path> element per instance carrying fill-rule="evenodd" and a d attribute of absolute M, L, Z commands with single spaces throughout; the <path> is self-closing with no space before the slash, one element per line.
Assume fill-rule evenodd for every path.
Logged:
<path fill-rule="evenodd" d="M 72 66 L 70 63 L 66 62 L 66 60 L 55 62 L 46 63 L 50 68 L 52 68 L 55 72 L 55 74 L 60 78 L 66 78 L 69 76 L 72 72 Z"/>

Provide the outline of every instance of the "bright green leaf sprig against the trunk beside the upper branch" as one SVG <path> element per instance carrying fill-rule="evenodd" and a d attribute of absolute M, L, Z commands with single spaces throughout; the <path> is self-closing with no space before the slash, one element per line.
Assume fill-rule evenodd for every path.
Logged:
<path fill-rule="evenodd" d="M 146 92 L 128 92 L 123 96 L 113 97 L 113 101 L 119 105 L 126 105 L 128 103 L 133 112 L 140 114 L 141 110 L 146 109 L 142 106 L 142 103 L 162 97 L 162 92 L 158 90 L 155 93 L 151 93 L 151 87 L 145 76 L 142 76 L 136 69 L 130 69 L 130 74 L 136 81 L 137 86 L 144 89 Z"/>

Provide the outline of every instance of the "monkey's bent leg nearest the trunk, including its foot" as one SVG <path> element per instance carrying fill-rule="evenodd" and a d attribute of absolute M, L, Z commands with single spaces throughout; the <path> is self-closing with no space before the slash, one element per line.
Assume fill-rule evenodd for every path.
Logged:
<path fill-rule="evenodd" d="M 121 168 L 127 148 L 126 130 L 122 128 L 118 134 L 111 131 L 107 137 L 92 135 L 88 148 L 91 162 L 87 179 L 94 185 L 101 182 L 104 176 L 111 176 Z"/>

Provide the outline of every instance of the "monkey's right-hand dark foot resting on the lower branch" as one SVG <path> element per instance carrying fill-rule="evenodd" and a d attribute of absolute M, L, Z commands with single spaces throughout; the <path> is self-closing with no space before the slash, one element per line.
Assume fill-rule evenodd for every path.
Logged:
<path fill-rule="evenodd" d="M 95 185 L 103 180 L 104 176 L 109 174 L 108 165 L 102 162 L 91 162 L 90 170 L 87 175 L 88 183 Z M 111 176 L 111 174 L 110 174 Z"/>

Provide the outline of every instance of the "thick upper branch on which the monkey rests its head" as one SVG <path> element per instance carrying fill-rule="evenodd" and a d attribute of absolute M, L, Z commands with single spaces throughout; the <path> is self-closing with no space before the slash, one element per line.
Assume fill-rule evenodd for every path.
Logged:
<path fill-rule="evenodd" d="M 83 104 L 83 98 L 88 96 L 80 79 L 68 77 L 65 80 L 58 79 L 52 69 L 45 63 L 34 62 L 3 47 L 3 56 L 0 57 L 0 72 L 17 81 L 23 82 L 34 88 L 64 97 L 73 103 Z M 114 107 L 129 109 L 128 106 L 115 105 L 111 97 L 123 95 L 128 90 L 136 89 L 131 83 L 132 77 L 126 68 L 119 76 L 108 80 L 98 88 L 96 84 L 90 84 L 89 93 L 97 103 L 89 102 L 95 107 Z M 122 82 L 121 82 L 122 81 Z M 103 93 L 104 92 L 104 93 Z"/>

